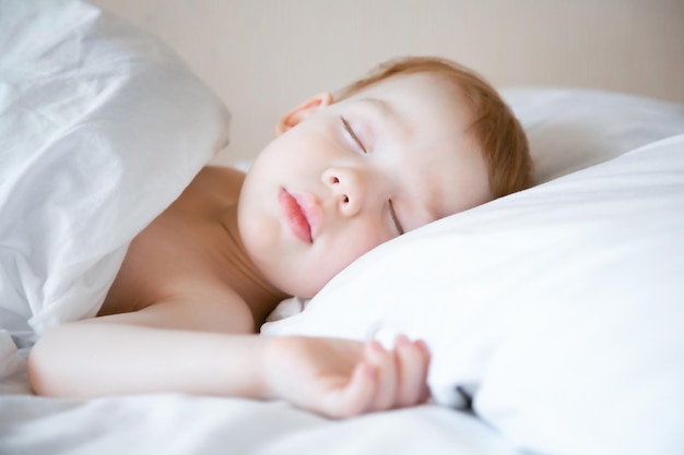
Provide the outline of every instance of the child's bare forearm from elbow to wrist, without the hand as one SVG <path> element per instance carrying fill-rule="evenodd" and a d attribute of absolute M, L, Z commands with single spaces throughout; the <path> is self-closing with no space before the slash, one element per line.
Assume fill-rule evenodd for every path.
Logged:
<path fill-rule="evenodd" d="M 258 359 L 264 345 L 248 335 L 75 322 L 36 344 L 28 372 L 42 395 L 184 392 L 262 397 Z"/>

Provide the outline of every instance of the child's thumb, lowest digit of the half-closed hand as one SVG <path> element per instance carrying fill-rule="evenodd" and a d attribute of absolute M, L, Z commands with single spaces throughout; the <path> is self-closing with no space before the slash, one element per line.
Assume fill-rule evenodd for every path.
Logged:
<path fill-rule="evenodd" d="M 358 363 L 349 383 L 337 391 L 325 393 L 321 411 L 328 417 L 346 418 L 368 410 L 377 388 L 377 368 L 367 362 Z"/>

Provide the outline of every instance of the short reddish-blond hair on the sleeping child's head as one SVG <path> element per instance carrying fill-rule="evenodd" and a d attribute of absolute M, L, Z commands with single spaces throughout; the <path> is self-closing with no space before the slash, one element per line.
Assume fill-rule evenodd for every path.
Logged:
<path fill-rule="evenodd" d="M 372 73 L 346 86 L 339 99 L 385 79 L 412 73 L 432 73 L 453 82 L 465 95 L 473 113 L 470 132 L 487 164 L 494 199 L 532 185 L 532 159 L 528 140 L 510 108 L 481 75 L 438 57 L 405 57 L 378 65 Z"/>

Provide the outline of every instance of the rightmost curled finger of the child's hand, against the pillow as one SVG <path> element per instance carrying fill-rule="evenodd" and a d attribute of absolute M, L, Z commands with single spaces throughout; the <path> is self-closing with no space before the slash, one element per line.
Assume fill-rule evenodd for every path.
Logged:
<path fill-rule="evenodd" d="M 397 407 L 415 405 L 425 396 L 427 362 L 424 351 L 404 335 L 394 342 L 398 363 Z"/>

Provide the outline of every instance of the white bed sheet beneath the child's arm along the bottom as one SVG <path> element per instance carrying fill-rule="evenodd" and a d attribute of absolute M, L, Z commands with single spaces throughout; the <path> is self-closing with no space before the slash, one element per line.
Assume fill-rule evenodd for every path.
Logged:
<path fill-rule="evenodd" d="M 181 395 L 0 396 L 0 453 L 519 455 L 482 421 L 438 406 L 337 421 L 284 403 Z"/>

